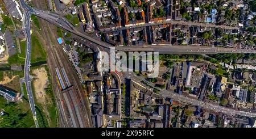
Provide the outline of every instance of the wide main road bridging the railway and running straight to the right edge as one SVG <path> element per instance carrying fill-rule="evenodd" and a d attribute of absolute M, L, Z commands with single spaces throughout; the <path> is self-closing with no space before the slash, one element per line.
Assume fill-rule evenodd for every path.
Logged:
<path fill-rule="evenodd" d="M 47 20 L 50 23 L 55 24 L 56 26 L 59 26 L 63 28 L 64 30 L 67 30 L 79 37 L 82 37 L 94 44 L 99 45 L 100 47 L 104 47 L 109 49 L 110 47 L 113 47 L 112 45 L 105 43 L 103 41 L 100 41 L 94 37 L 91 37 L 89 35 L 86 35 L 84 32 L 77 31 L 76 28 L 68 22 L 67 19 L 63 18 L 60 15 L 53 14 L 49 11 L 44 10 L 38 10 L 35 8 L 29 7 L 31 12 L 38 16 L 39 18 L 42 18 L 44 20 Z M 175 21 L 176 22 L 176 21 Z M 187 22 L 186 22 L 187 23 Z M 190 24 L 190 22 L 189 22 Z M 191 22 L 192 24 L 192 22 Z M 201 23 L 199 23 L 201 24 Z M 214 26 L 213 24 L 209 24 L 209 26 Z M 224 26 L 226 28 L 226 26 Z M 233 28 L 233 27 L 229 27 Z M 199 45 L 143 45 L 143 46 L 128 46 L 128 47 L 115 47 L 115 49 L 120 51 L 157 51 L 159 53 L 174 53 L 174 54 L 215 54 L 215 53 L 256 53 L 256 50 L 253 49 L 236 49 L 236 48 L 217 48 L 217 47 L 202 47 Z"/>

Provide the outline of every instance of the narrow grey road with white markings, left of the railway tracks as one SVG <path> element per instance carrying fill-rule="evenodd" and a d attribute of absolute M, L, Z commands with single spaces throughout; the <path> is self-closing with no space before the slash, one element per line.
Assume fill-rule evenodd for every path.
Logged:
<path fill-rule="evenodd" d="M 24 12 L 23 30 L 27 39 L 26 61 L 24 65 L 24 82 L 26 84 L 28 101 L 30 103 L 30 108 L 32 111 L 33 119 L 35 121 L 35 126 L 36 128 L 39 128 L 38 119 L 36 119 L 35 102 L 32 94 L 31 78 L 30 78 L 30 58 L 31 58 L 30 15 L 31 15 L 30 11 L 26 10 L 26 12 Z"/>

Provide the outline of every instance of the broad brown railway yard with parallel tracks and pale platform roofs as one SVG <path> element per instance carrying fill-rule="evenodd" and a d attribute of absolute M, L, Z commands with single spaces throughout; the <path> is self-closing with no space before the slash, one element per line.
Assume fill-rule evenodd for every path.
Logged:
<path fill-rule="evenodd" d="M 40 1 L 34 3 L 34 5 L 35 7 L 42 8 L 46 7 L 46 2 Z M 63 62 L 69 61 L 68 56 L 64 53 L 62 46 L 57 44 L 56 40 L 53 40 L 53 38 L 57 38 L 56 27 L 43 19 L 39 20 L 41 23 L 40 27 L 42 28 L 40 32 L 42 33 L 37 33 L 48 40 L 47 42 L 44 41 L 44 46 L 48 52 L 47 61 L 52 74 L 52 86 L 59 109 L 59 126 L 92 127 L 92 122 L 90 117 L 88 117 L 90 115 L 88 98 L 86 98 L 85 91 L 82 89 L 79 77 L 77 77 L 76 71 L 70 62 Z M 59 85 L 56 85 L 56 83 Z M 69 106 L 68 104 L 72 104 L 75 107 L 67 107 Z M 76 108 L 81 109 L 79 113 L 77 113 Z"/>

